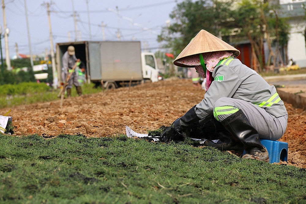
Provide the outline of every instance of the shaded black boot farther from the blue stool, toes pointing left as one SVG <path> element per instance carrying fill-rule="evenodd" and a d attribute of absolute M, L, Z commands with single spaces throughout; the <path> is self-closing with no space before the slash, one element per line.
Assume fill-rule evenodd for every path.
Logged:
<path fill-rule="evenodd" d="M 224 151 L 224 150 L 237 150 L 237 151 L 243 151 L 244 147 L 243 144 L 239 141 L 236 142 L 233 139 L 233 136 L 230 134 L 230 132 L 222 125 L 221 122 L 217 121 L 215 117 L 212 117 L 217 135 L 221 137 L 221 139 L 218 141 L 218 143 L 214 143 L 210 140 L 206 140 L 204 142 L 205 146 L 208 147 L 215 147 L 218 150 Z"/>

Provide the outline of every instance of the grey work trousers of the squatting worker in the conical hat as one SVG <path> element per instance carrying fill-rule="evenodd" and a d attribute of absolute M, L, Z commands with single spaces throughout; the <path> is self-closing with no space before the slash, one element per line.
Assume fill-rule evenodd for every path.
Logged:
<path fill-rule="evenodd" d="M 278 140 L 287 128 L 288 115 L 274 117 L 267 113 L 265 109 L 244 100 L 220 98 L 215 102 L 214 109 L 220 106 L 233 106 L 240 109 L 248 118 L 250 124 L 257 130 L 261 139 Z M 221 122 L 232 114 L 218 115 L 218 120 Z"/>

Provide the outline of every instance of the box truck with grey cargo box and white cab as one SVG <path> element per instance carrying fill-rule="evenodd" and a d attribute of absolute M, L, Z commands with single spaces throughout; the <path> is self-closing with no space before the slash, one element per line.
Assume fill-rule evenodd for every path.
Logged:
<path fill-rule="evenodd" d="M 80 41 L 56 44 L 58 81 L 61 82 L 62 56 L 74 46 L 76 58 L 86 66 L 87 81 L 106 89 L 158 81 L 159 70 L 153 53 L 141 53 L 140 41 Z"/>

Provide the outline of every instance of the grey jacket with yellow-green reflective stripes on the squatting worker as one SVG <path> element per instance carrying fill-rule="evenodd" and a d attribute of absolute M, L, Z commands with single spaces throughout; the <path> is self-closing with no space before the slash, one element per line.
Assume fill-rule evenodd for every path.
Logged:
<path fill-rule="evenodd" d="M 196 105 L 195 112 L 200 119 L 213 114 L 215 102 L 222 97 L 241 99 L 259 106 L 275 117 L 287 115 L 284 102 L 276 88 L 270 86 L 256 71 L 233 57 L 221 60 L 215 67 L 214 81 Z"/>

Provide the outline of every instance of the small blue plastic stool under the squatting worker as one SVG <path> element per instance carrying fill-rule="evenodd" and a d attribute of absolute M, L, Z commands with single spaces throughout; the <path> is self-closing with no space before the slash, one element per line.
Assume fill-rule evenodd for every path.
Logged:
<path fill-rule="evenodd" d="M 287 161 L 288 143 L 269 139 L 260 139 L 260 142 L 268 150 L 270 164 L 274 162 L 278 163 L 279 160 Z M 245 150 L 243 150 L 243 154 L 245 154 Z"/>

